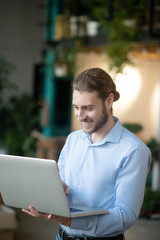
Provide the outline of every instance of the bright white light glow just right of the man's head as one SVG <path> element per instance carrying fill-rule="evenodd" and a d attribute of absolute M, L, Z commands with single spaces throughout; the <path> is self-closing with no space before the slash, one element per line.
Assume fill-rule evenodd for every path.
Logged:
<path fill-rule="evenodd" d="M 123 74 L 117 75 L 115 84 L 120 93 L 120 99 L 114 103 L 114 112 L 119 115 L 126 112 L 136 100 L 142 79 L 137 69 L 127 66 Z"/>

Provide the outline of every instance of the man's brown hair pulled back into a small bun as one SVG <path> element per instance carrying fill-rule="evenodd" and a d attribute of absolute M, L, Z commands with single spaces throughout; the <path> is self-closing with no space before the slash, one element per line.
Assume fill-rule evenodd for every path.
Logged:
<path fill-rule="evenodd" d="M 110 93 L 114 95 L 114 101 L 120 97 L 112 78 L 101 68 L 83 71 L 73 80 L 72 87 L 73 90 L 78 91 L 96 91 L 102 100 L 106 99 Z"/>

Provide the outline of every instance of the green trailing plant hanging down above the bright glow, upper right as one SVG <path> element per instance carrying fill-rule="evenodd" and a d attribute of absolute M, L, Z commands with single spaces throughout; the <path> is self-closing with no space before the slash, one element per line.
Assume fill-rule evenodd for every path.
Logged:
<path fill-rule="evenodd" d="M 99 21 L 108 41 L 104 48 L 110 59 L 110 69 L 122 72 L 126 64 L 133 64 L 130 53 L 146 24 L 149 0 L 93 0 L 90 15 Z"/>

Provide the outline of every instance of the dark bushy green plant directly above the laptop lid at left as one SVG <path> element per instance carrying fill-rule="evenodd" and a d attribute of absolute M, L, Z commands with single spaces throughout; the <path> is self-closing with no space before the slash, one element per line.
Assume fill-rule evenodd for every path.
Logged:
<path fill-rule="evenodd" d="M 32 131 L 39 124 L 37 103 L 26 94 L 11 97 L 0 108 L 0 145 L 8 154 L 33 155 L 36 142 Z"/>

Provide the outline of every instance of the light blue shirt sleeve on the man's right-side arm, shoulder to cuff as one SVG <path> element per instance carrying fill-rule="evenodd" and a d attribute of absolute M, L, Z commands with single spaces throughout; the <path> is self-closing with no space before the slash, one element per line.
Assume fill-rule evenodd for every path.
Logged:
<path fill-rule="evenodd" d="M 151 164 L 151 154 L 145 145 L 133 150 L 124 160 L 114 189 L 114 207 L 99 216 L 73 218 L 70 229 L 83 230 L 91 236 L 110 236 L 125 232 L 138 219 L 145 183 Z"/>

